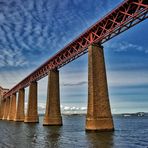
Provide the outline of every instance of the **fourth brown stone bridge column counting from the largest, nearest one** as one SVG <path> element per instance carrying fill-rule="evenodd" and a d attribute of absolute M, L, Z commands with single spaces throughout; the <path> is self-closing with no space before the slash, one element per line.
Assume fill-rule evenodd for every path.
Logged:
<path fill-rule="evenodd" d="M 24 99 L 25 89 L 22 88 L 18 92 L 18 102 L 14 121 L 24 121 Z"/>

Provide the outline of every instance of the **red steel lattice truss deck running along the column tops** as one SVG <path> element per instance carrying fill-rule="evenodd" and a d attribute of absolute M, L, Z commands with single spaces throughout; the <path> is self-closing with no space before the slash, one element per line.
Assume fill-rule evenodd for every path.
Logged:
<path fill-rule="evenodd" d="M 4 95 L 4 98 L 45 77 L 49 70 L 59 69 L 87 52 L 89 45 L 102 44 L 148 18 L 148 0 L 125 0 L 117 8 L 88 28 L 47 62 Z"/>

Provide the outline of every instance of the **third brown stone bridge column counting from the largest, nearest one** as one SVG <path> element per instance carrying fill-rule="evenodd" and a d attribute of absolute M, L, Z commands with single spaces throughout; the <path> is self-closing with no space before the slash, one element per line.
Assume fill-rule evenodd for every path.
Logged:
<path fill-rule="evenodd" d="M 39 122 L 37 109 L 37 82 L 29 86 L 28 108 L 24 122 Z"/>

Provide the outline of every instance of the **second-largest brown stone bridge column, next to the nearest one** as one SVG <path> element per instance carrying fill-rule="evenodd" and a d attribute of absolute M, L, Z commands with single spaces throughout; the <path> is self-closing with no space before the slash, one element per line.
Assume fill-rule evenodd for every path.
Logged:
<path fill-rule="evenodd" d="M 62 125 L 58 70 L 52 70 L 48 74 L 46 113 L 43 125 Z"/>

